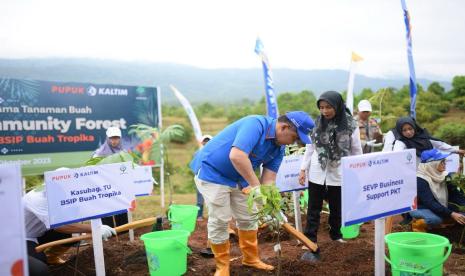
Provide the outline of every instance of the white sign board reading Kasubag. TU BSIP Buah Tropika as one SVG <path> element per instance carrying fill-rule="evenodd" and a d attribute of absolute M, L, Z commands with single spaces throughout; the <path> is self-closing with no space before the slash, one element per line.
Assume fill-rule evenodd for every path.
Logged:
<path fill-rule="evenodd" d="M 45 173 L 50 227 L 125 212 L 134 200 L 132 164 Z"/>

